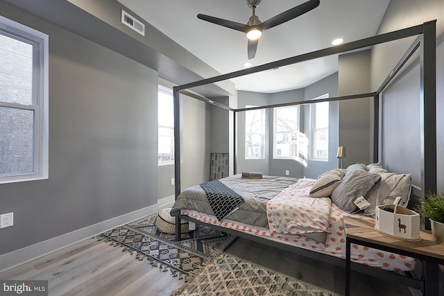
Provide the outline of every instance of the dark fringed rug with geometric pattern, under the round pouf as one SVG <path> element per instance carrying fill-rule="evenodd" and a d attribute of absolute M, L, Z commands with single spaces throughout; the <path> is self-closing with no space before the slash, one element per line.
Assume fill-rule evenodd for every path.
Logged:
<path fill-rule="evenodd" d="M 123 251 L 136 253 L 136 259 L 148 259 L 151 265 L 163 272 L 171 271 L 173 277 L 185 275 L 186 281 L 196 276 L 205 262 L 225 250 L 234 236 L 210 227 L 182 234 L 182 241 L 164 234 L 155 226 L 157 214 L 146 216 L 127 225 L 104 232 L 99 239 L 112 241 L 112 245 L 124 247 Z"/>

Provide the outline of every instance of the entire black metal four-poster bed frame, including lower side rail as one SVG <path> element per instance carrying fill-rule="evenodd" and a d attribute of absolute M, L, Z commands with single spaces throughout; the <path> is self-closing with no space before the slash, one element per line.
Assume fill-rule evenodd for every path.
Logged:
<path fill-rule="evenodd" d="M 357 49 L 363 49 L 367 46 L 373 46 L 375 44 L 382 44 L 384 42 L 391 42 L 394 40 L 400 40 L 406 37 L 417 36 L 416 40 L 411 44 L 409 49 L 404 53 L 398 64 L 395 65 L 393 71 L 386 77 L 382 85 L 375 91 L 366 94 L 354 94 L 351 96 L 339 96 L 336 98 L 323 98 L 316 101 L 296 101 L 293 103 L 282 103 L 275 105 L 267 105 L 261 107 L 250 107 L 242 109 L 234 109 L 227 107 L 226 105 L 212 101 L 209 98 L 203 98 L 194 93 L 187 92 L 187 89 L 193 87 L 199 87 L 203 85 L 212 84 L 214 82 L 219 82 L 222 80 L 227 80 L 230 78 L 236 78 L 239 76 L 248 75 L 251 73 L 257 73 L 259 71 L 265 71 L 268 69 L 273 69 L 276 67 L 283 67 L 289 64 L 295 64 L 298 62 L 303 62 L 307 60 L 312 60 L 315 58 L 322 58 L 327 55 L 334 55 L 338 53 L 345 53 L 348 51 L 355 51 Z M 382 35 L 376 35 L 374 37 L 368 37 L 363 40 L 358 40 L 355 42 L 350 42 L 342 44 L 340 46 L 332 46 L 327 49 L 321 49 L 318 51 L 312 51 L 310 53 L 305 53 L 302 55 L 294 56 L 293 58 L 287 58 L 284 60 L 278 60 L 275 62 L 270 62 L 268 64 L 263 64 L 257 67 L 252 67 L 249 69 L 244 69 L 240 71 L 234 71 L 232 73 L 223 74 L 221 76 L 215 76 L 213 78 L 207 78 L 199 80 L 196 82 L 191 82 L 185 85 L 180 85 L 173 87 L 173 98 L 174 98 L 174 148 L 175 148 L 175 194 L 176 199 L 178 198 L 180 191 L 180 96 L 179 94 L 185 94 L 196 98 L 200 101 L 210 103 L 217 107 L 221 107 L 225 110 L 229 110 L 234 113 L 234 174 L 237 173 L 236 167 L 236 113 L 244 112 L 247 110 L 259 110 L 273 107 L 282 107 L 290 105 L 302 105 L 310 103 L 319 102 L 331 102 L 331 101 L 343 101 L 355 98 L 371 98 L 373 97 L 374 102 L 374 134 L 373 134 L 373 161 L 378 162 L 379 159 L 379 97 L 384 91 L 384 89 L 389 85 L 391 80 L 396 76 L 396 74 L 402 69 L 404 64 L 407 63 L 409 58 L 413 56 L 419 49 L 420 51 L 420 151 L 421 151 L 421 187 L 420 187 L 420 198 L 425 198 L 425 193 L 428 191 L 436 192 L 436 20 L 428 21 L 424 24 L 418 26 L 412 26 L 410 28 L 404 28 L 399 31 L 393 31 L 391 33 L 385 33 Z M 180 241 L 180 219 L 189 220 L 200 225 L 205 225 L 201 221 L 190 218 L 189 216 L 176 216 L 176 241 Z M 329 256 L 326 254 L 321 254 L 311 250 L 305 250 L 302 248 L 294 247 L 292 245 L 287 245 L 285 243 L 279 243 L 277 241 L 272 241 L 264 237 L 254 236 L 252 234 L 247 234 L 244 232 L 238 232 L 233 229 L 228 229 L 224 227 L 219 227 L 216 225 L 209 225 L 214 229 L 219 229 L 223 232 L 233 234 L 234 236 L 241 236 L 247 238 L 251 241 L 256 241 L 263 243 L 265 245 L 271 245 L 277 247 L 281 250 L 287 250 L 302 256 L 307 256 L 311 259 L 321 260 L 326 263 L 333 265 L 338 265 L 345 267 L 345 260 L 338 257 Z M 425 225 L 429 229 L 429 225 Z M 373 277 L 384 278 L 388 280 L 395 280 L 398 283 L 405 284 L 406 286 L 411 286 L 418 290 L 421 290 L 421 282 L 418 279 L 413 279 L 412 277 L 400 276 L 394 272 L 387 270 L 379 270 L 377 268 L 372 268 L 360 263 L 351 263 L 352 270 L 357 272 L 363 272 L 367 275 Z M 436 270 L 438 272 L 438 270 Z"/>

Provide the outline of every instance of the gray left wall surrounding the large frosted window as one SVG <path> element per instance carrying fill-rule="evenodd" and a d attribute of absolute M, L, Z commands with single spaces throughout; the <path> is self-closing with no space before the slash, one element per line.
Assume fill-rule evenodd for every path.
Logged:
<path fill-rule="evenodd" d="M 0 254 L 157 203 L 157 72 L 0 2 L 49 37 L 49 180 L 0 185 Z"/>

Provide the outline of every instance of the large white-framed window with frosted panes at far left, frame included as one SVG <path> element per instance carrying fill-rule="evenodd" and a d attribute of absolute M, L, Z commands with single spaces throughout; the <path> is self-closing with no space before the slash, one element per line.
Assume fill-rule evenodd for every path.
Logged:
<path fill-rule="evenodd" d="M 48 44 L 0 17 L 0 183 L 48 178 Z"/>

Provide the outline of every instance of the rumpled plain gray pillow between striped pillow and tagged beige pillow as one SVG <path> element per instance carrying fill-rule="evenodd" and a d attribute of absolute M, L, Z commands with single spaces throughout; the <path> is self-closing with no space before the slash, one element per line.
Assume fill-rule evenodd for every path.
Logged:
<path fill-rule="evenodd" d="M 381 176 L 374 173 L 368 173 L 363 169 L 354 169 L 345 171 L 345 177 L 333 191 L 332 202 L 340 209 L 347 213 L 356 211 L 358 207 L 354 203 L 359 196 L 366 196 L 368 191 L 372 189 L 377 182 L 381 180 Z"/>

